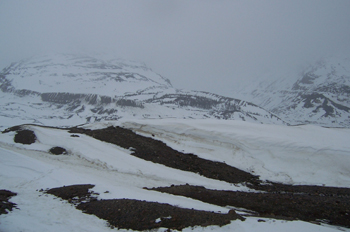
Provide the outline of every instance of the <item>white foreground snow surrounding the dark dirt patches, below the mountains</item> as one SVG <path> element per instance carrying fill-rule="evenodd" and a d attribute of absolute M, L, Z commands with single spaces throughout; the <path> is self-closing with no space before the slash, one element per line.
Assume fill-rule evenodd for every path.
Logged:
<path fill-rule="evenodd" d="M 131 128 L 147 136 L 153 134 L 155 139 L 174 149 L 224 161 L 260 175 L 262 179 L 290 184 L 350 186 L 349 129 L 174 119 L 95 123 L 86 127 L 96 129 L 111 125 Z M 113 230 L 105 221 L 37 191 L 63 185 L 94 184 L 93 191 L 100 193 L 100 199 L 140 199 L 222 213 L 230 208 L 143 187 L 188 183 L 209 189 L 249 191 L 241 185 L 139 159 L 129 155 L 130 150 L 89 136 L 71 137 L 64 130 L 27 127 L 38 138 L 31 145 L 14 143 L 15 132 L 0 134 L 0 189 L 18 194 L 10 201 L 19 208 L 0 216 L 1 232 Z M 53 146 L 66 148 L 69 155 L 50 155 L 48 150 Z M 350 231 L 302 221 L 265 219 L 266 222 L 258 222 L 258 219 L 250 217 L 223 227 L 195 227 L 183 231 Z"/>

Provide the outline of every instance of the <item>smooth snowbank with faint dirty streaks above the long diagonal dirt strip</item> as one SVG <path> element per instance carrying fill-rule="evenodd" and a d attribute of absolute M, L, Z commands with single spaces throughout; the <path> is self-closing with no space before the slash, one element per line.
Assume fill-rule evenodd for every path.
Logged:
<path fill-rule="evenodd" d="M 177 150 L 289 184 L 350 186 L 350 130 L 221 120 L 148 120 L 123 126 Z"/>

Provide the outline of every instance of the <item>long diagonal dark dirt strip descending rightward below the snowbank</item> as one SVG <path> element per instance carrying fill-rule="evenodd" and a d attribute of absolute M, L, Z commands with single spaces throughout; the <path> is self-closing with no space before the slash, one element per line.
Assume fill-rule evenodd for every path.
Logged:
<path fill-rule="evenodd" d="M 259 183 L 259 177 L 244 172 L 222 162 L 199 158 L 194 154 L 184 154 L 168 147 L 165 143 L 138 135 L 121 127 L 108 127 L 99 130 L 71 128 L 70 133 L 82 133 L 101 141 L 116 144 L 134 151 L 132 155 L 160 163 L 168 167 L 198 173 L 202 176 L 223 180 L 229 183 Z"/>

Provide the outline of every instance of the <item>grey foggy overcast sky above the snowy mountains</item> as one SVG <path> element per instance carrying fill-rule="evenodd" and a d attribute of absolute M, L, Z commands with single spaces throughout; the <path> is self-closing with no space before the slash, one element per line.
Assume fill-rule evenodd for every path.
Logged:
<path fill-rule="evenodd" d="M 109 52 L 174 87 L 234 96 L 261 73 L 350 55 L 350 0 L 0 0 L 0 67 L 37 54 Z"/>

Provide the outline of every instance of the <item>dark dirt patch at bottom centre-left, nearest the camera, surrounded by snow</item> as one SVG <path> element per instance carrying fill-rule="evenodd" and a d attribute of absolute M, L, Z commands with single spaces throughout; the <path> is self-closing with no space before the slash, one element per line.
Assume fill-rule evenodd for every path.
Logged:
<path fill-rule="evenodd" d="M 234 210 L 228 214 L 184 209 L 169 204 L 130 199 L 96 200 L 89 191 L 94 185 L 72 185 L 47 190 L 74 203 L 77 209 L 107 220 L 112 227 L 149 230 L 159 227 L 181 230 L 189 226 L 223 226 L 241 219 Z M 74 201 L 75 199 L 75 201 Z"/>

